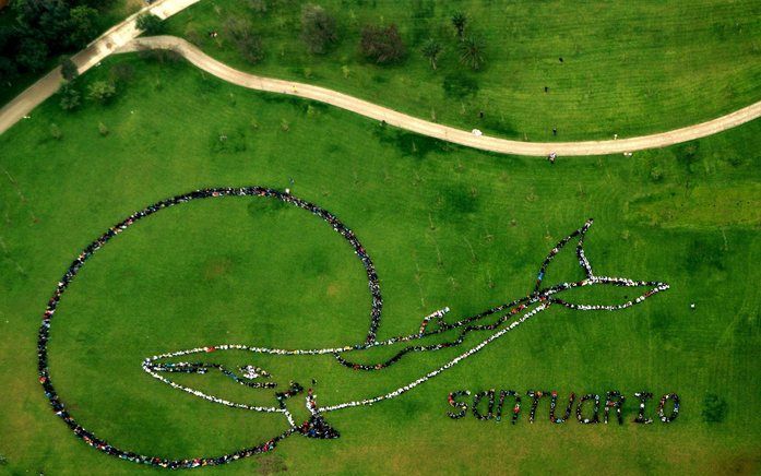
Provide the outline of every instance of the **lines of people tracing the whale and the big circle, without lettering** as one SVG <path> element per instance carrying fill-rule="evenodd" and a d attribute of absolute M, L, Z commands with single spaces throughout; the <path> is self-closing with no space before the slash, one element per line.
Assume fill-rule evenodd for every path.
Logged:
<path fill-rule="evenodd" d="M 159 456 L 145 456 L 141 455 L 134 452 L 130 451 L 124 451 L 121 449 L 118 449 L 111 444 L 109 444 L 107 441 L 104 439 L 100 439 L 99 437 L 95 436 L 93 432 L 88 431 L 87 429 L 83 428 L 81 425 L 79 425 L 75 419 L 71 416 L 71 414 L 68 412 L 63 402 L 61 401 L 60 396 L 56 392 L 51 379 L 50 379 L 50 370 L 47 365 L 47 340 L 49 337 L 49 330 L 50 330 L 50 322 L 51 319 L 55 314 L 56 308 L 58 306 L 58 302 L 63 295 L 63 291 L 67 289 L 69 283 L 74 278 L 74 276 L 78 274 L 82 265 L 84 265 L 85 261 L 93 255 L 93 253 L 97 252 L 108 240 L 110 240 L 112 237 L 119 235 L 122 233 L 124 229 L 127 229 L 129 226 L 131 226 L 133 223 L 138 222 L 139 219 L 142 219 L 146 216 L 152 215 L 153 213 L 156 213 L 163 209 L 166 209 L 168 206 L 174 206 L 176 204 L 185 203 L 191 200 L 195 199 L 206 199 L 206 198 L 222 198 L 222 197 L 266 197 L 266 198 L 273 198 L 281 200 L 283 202 L 296 205 L 297 207 L 307 210 L 311 212 L 312 214 L 322 217 L 325 219 L 330 225 L 333 226 L 333 229 L 337 233 L 340 233 L 354 248 L 355 254 L 357 254 L 362 262 L 362 265 L 365 266 L 365 270 L 367 272 L 368 276 L 368 286 L 370 288 L 370 294 L 372 296 L 372 307 L 371 307 L 371 312 L 370 312 L 370 330 L 368 332 L 367 338 L 365 342 L 359 343 L 359 344 L 353 344 L 348 346 L 343 346 L 343 347 L 329 347 L 329 348 L 313 348 L 313 349 L 278 349 L 278 348 L 269 348 L 269 347 L 255 347 L 255 346 L 249 346 L 249 345 L 228 345 L 228 344 L 223 344 L 223 345 L 217 345 L 217 346 L 204 346 L 204 347 L 198 347 L 193 349 L 188 349 L 188 350 L 179 350 L 179 352 L 174 352 L 174 353 L 166 353 L 166 354 L 160 354 L 160 355 L 155 355 L 153 357 L 145 358 L 142 362 L 143 370 L 150 373 L 152 377 L 163 381 L 164 383 L 167 383 L 174 388 L 183 390 L 186 392 L 192 393 L 199 397 L 205 398 L 207 401 L 212 401 L 215 403 L 224 404 L 227 406 L 231 407 L 237 407 L 237 408 L 245 408 L 245 409 L 250 409 L 250 410 L 257 410 L 257 412 L 265 412 L 265 413 L 280 413 L 283 414 L 286 417 L 286 420 L 288 421 L 288 428 L 281 435 L 263 442 L 254 447 L 250 447 L 243 450 L 236 451 L 234 453 L 221 455 L 221 456 L 212 456 L 212 457 L 195 457 L 195 459 L 183 459 L 183 460 L 169 460 L 169 459 L 164 459 Z M 421 325 L 419 330 L 415 333 L 408 334 L 408 335 L 401 335 L 397 337 L 391 337 L 387 338 L 383 341 L 379 341 L 377 338 L 377 331 L 380 325 L 380 317 L 381 317 L 381 309 L 382 309 L 382 298 L 380 294 L 380 284 L 378 281 L 378 275 L 374 271 L 374 265 L 372 261 L 370 260 L 369 255 L 367 254 L 367 251 L 364 249 L 359 240 L 357 239 L 356 235 L 343 223 L 341 223 L 335 215 L 331 214 L 330 212 L 325 211 L 324 209 L 321 209 L 310 202 L 304 201 L 301 199 L 298 199 L 294 197 L 293 194 L 289 193 L 289 191 L 286 189 L 285 192 L 270 189 L 270 188 L 263 188 L 263 187 L 245 187 L 245 188 L 213 188 L 213 189 L 202 189 L 202 190 L 195 190 L 193 192 L 183 194 L 183 195 L 176 195 L 170 199 L 154 203 L 152 205 L 148 205 L 147 207 L 135 212 L 134 214 L 130 215 L 127 219 L 120 222 L 119 224 L 115 225 L 114 227 L 109 228 L 104 235 L 102 235 L 98 239 L 93 241 L 85 250 L 72 262 L 72 264 L 69 266 L 67 273 L 64 274 L 63 278 L 58 283 L 58 286 L 56 288 L 56 291 L 53 293 L 53 297 L 49 300 L 48 307 L 46 308 L 46 311 L 43 316 L 43 323 L 39 329 L 39 334 L 38 334 L 38 374 L 39 374 L 39 381 L 43 384 L 43 388 L 45 390 L 45 394 L 48 397 L 53 412 L 60 416 L 67 425 L 74 431 L 74 433 L 83 439 L 86 443 L 88 443 L 91 447 L 96 448 L 107 454 L 115 455 L 117 457 L 121 457 L 123 460 L 128 461 L 133 461 L 138 463 L 144 463 L 144 464 L 151 464 L 159 467 L 169 467 L 169 468 L 190 468 L 190 467 L 199 467 L 199 466 L 206 466 L 206 465 L 217 465 L 217 464 L 224 464 L 228 463 L 231 461 L 239 460 L 241 457 L 247 457 L 251 456 L 254 454 L 261 454 L 264 452 L 272 451 L 276 444 L 282 441 L 283 439 L 289 437 L 290 435 L 294 433 L 300 433 L 306 437 L 312 437 L 312 438 L 324 438 L 324 439 L 330 439 L 330 438 L 338 438 L 340 433 L 332 428 L 324 419 L 324 414 L 328 414 L 330 412 L 334 412 L 337 409 L 343 409 L 343 408 L 348 408 L 348 407 L 358 407 L 358 406 L 368 406 L 368 405 L 373 405 L 378 402 L 385 401 L 385 400 L 391 400 L 395 398 L 409 390 L 413 390 L 417 385 L 428 381 L 432 377 L 438 376 L 439 373 L 454 367 L 459 362 L 461 362 L 463 359 L 469 357 L 471 355 L 479 352 L 484 347 L 486 347 L 488 344 L 492 343 L 494 341 L 498 340 L 499 337 L 503 336 L 508 332 L 512 331 L 515 329 L 518 325 L 521 323 L 525 322 L 526 320 L 531 319 L 532 317 L 540 313 L 542 311 L 546 310 L 548 307 L 554 306 L 554 305 L 560 305 L 567 308 L 571 309 L 579 309 L 579 310 L 619 310 L 619 309 L 626 309 L 629 307 L 632 307 L 637 304 L 640 304 L 644 301 L 646 298 L 662 291 L 666 290 L 669 288 L 669 286 L 665 283 L 662 282 L 654 282 L 654 281 L 634 281 L 634 279 L 628 279 L 628 278 L 622 278 L 622 277 L 610 277 L 610 276 L 598 276 L 594 274 L 593 269 L 586 259 L 586 255 L 584 253 L 583 249 L 583 242 L 584 238 L 586 236 L 587 230 L 592 226 L 592 219 L 588 219 L 584 223 L 582 227 L 579 229 L 574 230 L 567 237 L 564 237 L 562 240 L 558 242 L 558 245 L 552 248 L 552 250 L 547 254 L 545 258 L 540 269 L 539 273 L 536 278 L 536 283 L 534 285 L 534 289 L 531 294 L 527 296 L 515 299 L 511 302 L 503 304 L 490 309 L 487 309 L 484 312 L 477 313 L 475 316 L 471 316 L 467 318 L 463 318 L 459 321 L 455 322 L 445 322 L 443 317 L 444 314 L 449 311 L 449 308 L 445 308 L 443 310 L 433 312 L 432 314 L 427 316 L 424 318 Z M 562 282 L 556 285 L 552 285 L 550 287 L 542 287 L 543 281 L 544 281 L 544 275 L 547 270 L 547 266 L 550 264 L 550 262 L 554 260 L 554 258 L 572 240 L 576 240 L 576 246 L 575 246 L 575 252 L 576 252 L 576 259 L 579 262 L 579 265 L 582 267 L 585 277 L 575 281 L 575 282 Z M 570 290 L 573 288 L 578 287 L 584 287 L 584 286 L 595 286 L 595 285 L 615 285 L 615 286 L 623 286 L 623 287 L 641 287 L 645 286 L 649 289 L 637 297 L 635 299 L 631 299 L 628 301 L 625 301 L 622 304 L 618 305 L 579 305 L 579 304 L 573 304 L 568 300 L 561 299 L 558 297 L 560 293 Z M 527 311 L 526 311 L 527 310 Z M 524 312 L 522 316 L 521 312 Z M 496 321 L 490 322 L 488 324 L 483 324 L 483 323 L 476 323 L 477 321 L 484 321 L 489 318 L 495 318 Z M 518 318 L 513 319 L 512 318 Z M 431 325 L 432 323 L 432 325 Z M 416 343 L 418 341 L 421 341 L 426 337 L 435 336 L 442 334 L 448 331 L 459 331 L 459 335 L 455 340 L 444 342 L 444 343 L 438 343 L 435 345 L 429 345 L 429 346 L 420 346 L 420 345 L 406 345 L 407 343 Z M 164 373 L 173 373 L 173 372 L 181 372 L 181 373 L 206 373 L 210 370 L 218 370 L 222 373 L 224 373 L 227 377 L 230 377 L 234 379 L 236 382 L 241 383 L 246 386 L 250 386 L 252 389 L 275 389 L 277 388 L 277 384 L 275 382 L 272 382 L 270 380 L 270 374 L 265 369 L 261 369 L 257 366 L 247 366 L 246 368 L 239 368 L 241 372 L 243 372 L 243 376 L 239 376 L 235 371 L 226 368 L 223 365 L 219 364 L 214 364 L 214 362 L 170 362 L 170 364 L 163 364 L 160 362 L 162 359 L 166 358 L 174 358 L 178 356 L 186 356 L 186 355 L 192 355 L 192 354 L 210 354 L 210 353 L 215 353 L 215 352 L 226 352 L 226 350 L 247 350 L 250 353 L 254 354 L 269 354 L 269 355 L 288 355 L 288 356 L 314 356 L 314 355 L 331 355 L 332 357 L 335 358 L 336 362 L 340 365 L 343 365 L 349 369 L 357 370 L 357 371 L 376 371 L 380 370 L 383 368 L 387 368 L 391 365 L 394 365 L 395 362 L 400 361 L 402 358 L 404 358 L 405 355 L 409 353 L 417 353 L 417 352 L 432 352 L 432 350 L 439 350 L 442 348 L 451 348 L 455 347 L 457 345 L 462 345 L 465 341 L 465 337 L 467 334 L 471 332 L 477 332 L 477 331 L 495 331 L 492 334 L 490 334 L 486 340 L 480 341 L 477 345 L 471 346 L 468 350 L 466 350 L 463 354 L 460 354 L 453 359 L 450 359 L 447 364 L 443 366 L 440 366 L 433 370 L 430 370 L 423 374 L 420 378 L 413 380 L 406 385 L 402 385 L 396 388 L 395 390 L 392 390 L 390 392 L 383 393 L 381 395 L 372 396 L 369 398 L 365 400 L 354 400 L 354 401 L 348 401 L 348 402 L 343 402 L 340 404 L 335 405 L 325 405 L 325 406 L 319 406 L 317 404 L 317 395 L 312 392 L 312 389 L 309 389 L 307 392 L 304 392 L 304 386 L 301 386 L 297 382 L 289 382 L 287 390 L 283 392 L 275 392 L 274 397 L 276 402 L 276 406 L 254 406 L 254 405 L 248 405 L 248 404 L 241 404 L 241 403 L 236 403 L 236 402 L 230 402 L 226 401 L 224 398 L 216 397 L 214 395 L 201 392 L 199 390 L 180 385 L 168 378 L 165 378 L 163 374 Z M 366 349 L 371 349 L 371 348 L 380 348 L 384 346 L 390 346 L 393 344 L 401 343 L 405 345 L 405 347 L 396 353 L 393 357 L 385 361 L 377 362 L 373 365 L 364 365 L 364 364 L 356 364 L 356 361 L 348 360 L 344 357 L 344 355 L 350 355 L 352 353 L 361 353 L 362 350 Z M 275 383 L 275 384 L 273 384 Z M 282 388 L 278 390 L 283 390 Z M 306 394 L 305 394 L 306 393 Z M 308 410 L 309 418 L 304 421 L 304 423 L 298 423 L 294 419 L 292 412 L 288 409 L 288 403 L 294 401 L 292 397 L 296 395 L 304 395 L 304 404 Z M 296 398 L 298 400 L 298 398 Z"/>

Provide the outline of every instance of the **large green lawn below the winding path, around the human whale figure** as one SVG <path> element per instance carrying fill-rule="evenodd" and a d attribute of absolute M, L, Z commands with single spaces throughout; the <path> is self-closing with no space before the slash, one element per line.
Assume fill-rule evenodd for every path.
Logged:
<path fill-rule="evenodd" d="M 272 455 L 209 474 L 758 471 L 760 122 L 693 150 L 549 166 L 379 131 L 185 63 L 119 57 L 83 80 L 117 61 L 138 72 L 110 106 L 66 115 L 49 100 L 0 136 L 0 432 L 14 436 L 0 439 L 9 460 L 0 472 L 148 472 L 75 441 L 47 407 L 34 348 L 55 282 L 78 250 L 147 203 L 206 186 L 285 188 L 289 178 L 371 252 L 383 336 L 411 332 L 445 305 L 462 316 L 523 295 L 555 240 L 587 216 L 597 218 L 586 243 L 599 272 L 673 289 L 616 314 L 549 310 L 408 395 L 331 415 L 340 440 L 292 438 Z M 245 200 L 192 203 L 141 223 L 88 262 L 53 323 L 51 371 L 72 413 L 114 443 L 175 456 L 228 451 L 282 421 L 178 394 L 142 373 L 141 359 L 218 342 L 355 342 L 367 308 L 360 266 L 319 222 Z M 644 388 L 678 392 L 683 410 L 670 427 L 647 428 L 550 426 L 546 402 L 533 426 L 525 414 L 515 427 L 453 421 L 445 395 L 462 388 L 630 396 Z M 724 423 L 702 423 L 706 392 L 726 398 Z M 634 403 L 627 408 L 633 418 Z"/>

